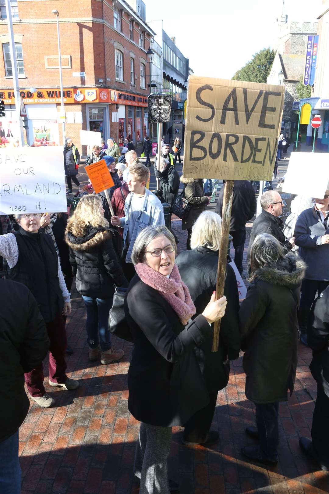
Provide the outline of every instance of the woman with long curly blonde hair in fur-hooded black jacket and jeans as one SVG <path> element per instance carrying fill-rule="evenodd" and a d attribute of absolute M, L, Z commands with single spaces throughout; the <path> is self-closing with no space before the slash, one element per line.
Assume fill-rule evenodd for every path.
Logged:
<path fill-rule="evenodd" d="M 110 340 L 109 311 L 113 285 L 127 287 L 128 282 L 122 272 L 119 254 L 113 247 L 113 244 L 120 245 L 120 236 L 104 218 L 99 197 L 87 195 L 80 199 L 68 221 L 66 242 L 70 247 L 76 289 L 87 309 L 89 360 L 98 359 L 100 346 L 101 363 L 110 364 L 123 356 L 123 350 L 115 350 Z"/>

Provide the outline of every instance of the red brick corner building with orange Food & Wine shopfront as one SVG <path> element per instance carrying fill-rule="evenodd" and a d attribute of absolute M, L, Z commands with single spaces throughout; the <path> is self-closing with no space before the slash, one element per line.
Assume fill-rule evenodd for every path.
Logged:
<path fill-rule="evenodd" d="M 125 0 L 11 0 L 27 143 L 62 145 L 56 16 L 59 12 L 66 136 L 81 149 L 80 130 L 143 142 L 147 129 L 146 51 L 154 32 Z M 0 8 L 2 144 L 17 140 L 5 10 Z M 30 88 L 37 91 L 31 92 Z M 8 142 L 6 142 L 8 141 Z"/>

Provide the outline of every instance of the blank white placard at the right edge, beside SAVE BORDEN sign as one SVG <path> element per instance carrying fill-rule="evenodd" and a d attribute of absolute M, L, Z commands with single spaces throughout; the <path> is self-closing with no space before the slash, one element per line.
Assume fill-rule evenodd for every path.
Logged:
<path fill-rule="evenodd" d="M 282 192 L 323 198 L 328 188 L 328 153 L 292 153 Z"/>

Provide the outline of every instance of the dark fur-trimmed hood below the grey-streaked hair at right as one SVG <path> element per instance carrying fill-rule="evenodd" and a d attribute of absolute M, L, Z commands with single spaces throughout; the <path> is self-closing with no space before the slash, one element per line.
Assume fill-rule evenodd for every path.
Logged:
<path fill-rule="evenodd" d="M 262 267 L 256 270 L 258 280 L 288 288 L 298 287 L 306 274 L 306 264 L 300 257 L 288 252 L 276 267 Z"/>

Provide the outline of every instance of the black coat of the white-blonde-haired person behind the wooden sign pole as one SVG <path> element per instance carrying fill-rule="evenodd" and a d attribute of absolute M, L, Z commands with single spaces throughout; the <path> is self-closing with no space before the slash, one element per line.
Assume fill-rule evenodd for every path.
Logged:
<path fill-rule="evenodd" d="M 176 264 L 196 307 L 196 316 L 202 314 L 216 289 L 218 252 L 206 247 L 185 250 Z M 210 393 L 226 386 L 230 371 L 229 360 L 239 357 L 239 295 L 236 278 L 231 266 L 226 266 L 224 295 L 227 307 L 220 320 L 219 349 L 212 353 L 212 341 L 205 341 L 195 348 L 196 358 Z M 195 316 L 193 316 L 195 317 Z"/>

